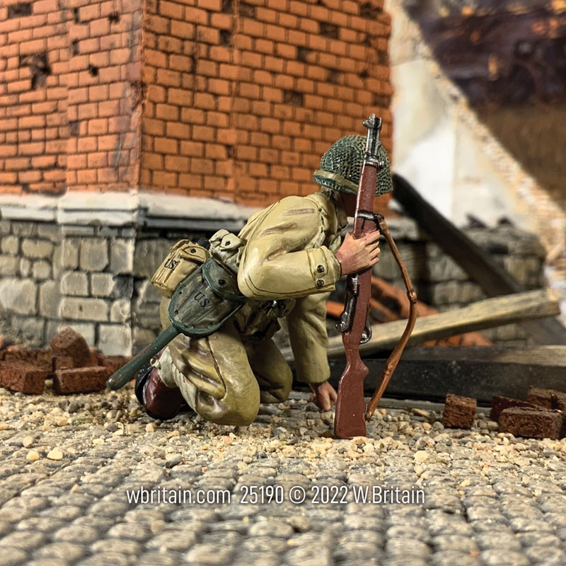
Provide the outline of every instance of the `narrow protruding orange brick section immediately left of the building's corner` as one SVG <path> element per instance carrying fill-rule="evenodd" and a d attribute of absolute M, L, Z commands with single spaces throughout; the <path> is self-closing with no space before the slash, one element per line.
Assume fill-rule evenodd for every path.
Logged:
<path fill-rule="evenodd" d="M 128 190 L 139 179 L 142 0 L 70 0 L 79 7 L 69 42 L 67 184 Z M 73 127 L 74 126 L 74 127 Z"/>

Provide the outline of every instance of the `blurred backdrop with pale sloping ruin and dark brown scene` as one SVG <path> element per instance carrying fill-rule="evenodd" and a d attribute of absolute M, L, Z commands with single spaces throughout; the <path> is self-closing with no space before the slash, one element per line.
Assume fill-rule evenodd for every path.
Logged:
<path fill-rule="evenodd" d="M 538 209 L 536 202 L 534 210 L 514 202 L 522 179 L 506 169 L 515 161 L 541 187 L 541 200 L 548 195 L 563 210 L 565 4 L 439 0 L 388 6 L 397 171 L 456 221 L 470 212 L 493 221 L 498 209 L 516 218 Z M 451 197 L 447 186 L 454 187 Z"/>

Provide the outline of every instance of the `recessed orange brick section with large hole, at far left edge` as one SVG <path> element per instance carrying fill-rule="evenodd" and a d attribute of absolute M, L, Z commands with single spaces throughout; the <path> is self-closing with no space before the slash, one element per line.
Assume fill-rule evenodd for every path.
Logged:
<path fill-rule="evenodd" d="M 67 164 L 67 16 L 57 1 L 0 8 L 0 185 L 62 192 Z M 8 12 L 9 17 L 8 18 Z M 49 47 L 47 46 L 49 42 Z"/>

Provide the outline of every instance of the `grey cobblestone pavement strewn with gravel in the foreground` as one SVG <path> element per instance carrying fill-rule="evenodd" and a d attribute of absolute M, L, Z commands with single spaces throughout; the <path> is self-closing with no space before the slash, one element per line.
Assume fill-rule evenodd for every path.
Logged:
<path fill-rule="evenodd" d="M 299 394 L 239 429 L 152 421 L 131 388 L 0 390 L 0 566 L 565 565 L 566 441 L 514 439 L 483 415 L 471 432 L 438 418 L 382 409 L 369 439 L 338 441 L 333 414 Z M 284 501 L 253 504 L 249 485 L 264 499 L 280 485 Z M 289 501 L 291 486 L 306 502 Z M 356 503 L 354 486 L 399 488 L 390 500 L 416 486 L 424 503 Z M 128 500 L 163 488 L 228 490 L 231 502 Z"/>

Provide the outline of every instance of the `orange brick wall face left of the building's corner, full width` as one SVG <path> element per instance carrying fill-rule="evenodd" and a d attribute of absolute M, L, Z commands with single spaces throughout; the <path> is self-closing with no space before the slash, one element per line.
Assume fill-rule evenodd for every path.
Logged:
<path fill-rule="evenodd" d="M 140 23 L 141 0 L 4 3 L 0 192 L 137 186 Z"/>

